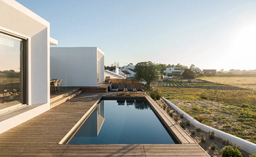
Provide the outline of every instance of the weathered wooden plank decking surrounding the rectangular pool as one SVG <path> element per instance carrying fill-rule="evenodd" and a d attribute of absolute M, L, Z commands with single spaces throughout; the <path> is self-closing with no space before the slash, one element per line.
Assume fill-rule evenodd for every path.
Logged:
<path fill-rule="evenodd" d="M 122 94 L 118 94 L 121 96 Z M 208 156 L 209 155 L 147 94 L 153 110 L 183 144 L 58 144 L 80 118 L 102 97 L 115 92 L 81 93 L 27 122 L 0 134 L 2 156 Z M 124 96 L 124 95 L 122 95 Z"/>

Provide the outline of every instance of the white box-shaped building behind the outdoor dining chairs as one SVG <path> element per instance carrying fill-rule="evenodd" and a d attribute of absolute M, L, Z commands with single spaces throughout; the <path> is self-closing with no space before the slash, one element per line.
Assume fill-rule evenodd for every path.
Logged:
<path fill-rule="evenodd" d="M 62 86 L 97 87 L 104 82 L 104 53 L 98 47 L 51 47 L 51 79 Z"/>

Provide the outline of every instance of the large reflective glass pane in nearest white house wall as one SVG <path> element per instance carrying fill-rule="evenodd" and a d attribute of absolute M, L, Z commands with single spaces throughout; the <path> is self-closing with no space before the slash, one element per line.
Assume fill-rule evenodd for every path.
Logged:
<path fill-rule="evenodd" d="M 0 110 L 24 103 L 24 41 L 0 33 Z"/>

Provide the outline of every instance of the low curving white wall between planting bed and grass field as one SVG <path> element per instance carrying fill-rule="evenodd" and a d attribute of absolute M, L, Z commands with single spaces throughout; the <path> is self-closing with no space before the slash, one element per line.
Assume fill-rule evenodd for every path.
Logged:
<path fill-rule="evenodd" d="M 180 114 L 184 114 L 184 117 L 187 120 L 189 120 L 191 122 L 191 124 L 193 124 L 195 127 L 201 127 L 201 129 L 205 132 L 214 131 L 216 137 L 229 139 L 230 144 L 236 144 L 236 145 L 240 146 L 242 150 L 244 150 L 248 153 L 251 153 L 251 154 L 256 153 L 256 144 L 249 142 L 247 140 L 241 139 L 239 137 L 230 135 L 226 132 L 217 130 L 215 128 L 209 127 L 202 123 L 199 123 L 196 119 L 194 119 L 193 117 L 188 115 L 186 112 L 182 111 L 179 107 L 177 107 L 176 105 L 174 105 L 173 103 L 171 103 L 170 101 L 165 99 L 164 97 L 162 97 L 162 98 L 167 104 L 169 104 L 171 107 L 173 107 L 177 112 L 179 112 Z"/>

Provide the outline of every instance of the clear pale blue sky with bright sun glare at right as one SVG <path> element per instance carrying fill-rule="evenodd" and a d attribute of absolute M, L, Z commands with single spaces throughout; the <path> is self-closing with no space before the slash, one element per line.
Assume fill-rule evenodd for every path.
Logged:
<path fill-rule="evenodd" d="M 17 0 L 60 47 L 97 46 L 105 65 L 152 61 L 256 69 L 256 1 Z"/>

